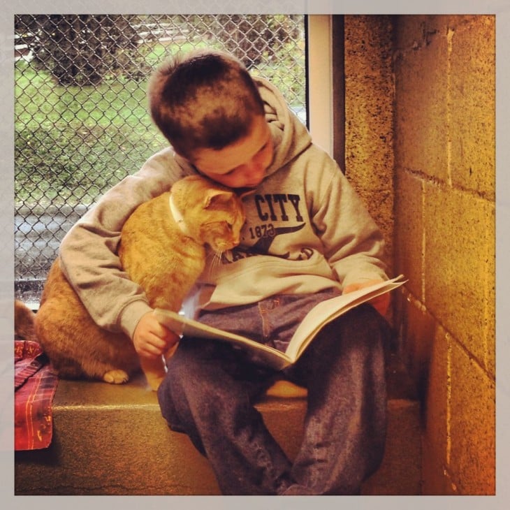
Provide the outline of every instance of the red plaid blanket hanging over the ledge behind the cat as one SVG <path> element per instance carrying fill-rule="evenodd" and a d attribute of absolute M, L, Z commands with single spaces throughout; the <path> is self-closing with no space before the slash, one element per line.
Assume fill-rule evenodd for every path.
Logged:
<path fill-rule="evenodd" d="M 15 340 L 15 450 L 47 448 L 52 440 L 52 401 L 57 374 L 37 342 Z"/>

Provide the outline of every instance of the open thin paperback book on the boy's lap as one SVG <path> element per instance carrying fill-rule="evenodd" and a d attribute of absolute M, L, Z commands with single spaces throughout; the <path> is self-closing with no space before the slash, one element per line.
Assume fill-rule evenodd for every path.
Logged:
<path fill-rule="evenodd" d="M 312 342 L 315 335 L 319 333 L 319 330 L 326 326 L 327 323 L 361 303 L 365 303 L 365 301 L 381 296 L 381 294 L 386 292 L 393 291 L 393 289 L 396 289 L 406 281 L 407 280 L 400 275 L 386 282 L 377 283 L 358 291 L 330 298 L 315 305 L 296 329 L 285 352 L 260 344 L 247 337 L 205 326 L 205 324 L 187 319 L 169 310 L 156 308 L 154 314 L 156 319 L 158 319 L 163 326 L 172 330 L 176 335 L 205 337 L 223 342 L 230 342 L 233 345 L 250 351 L 255 362 L 263 363 L 277 370 L 282 370 L 298 360 L 309 343 Z"/>

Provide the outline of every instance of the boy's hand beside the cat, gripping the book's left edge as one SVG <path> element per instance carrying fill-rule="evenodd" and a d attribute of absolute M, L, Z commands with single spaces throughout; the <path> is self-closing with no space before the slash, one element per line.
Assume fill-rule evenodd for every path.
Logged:
<path fill-rule="evenodd" d="M 152 312 L 143 315 L 135 328 L 133 344 L 138 356 L 156 358 L 173 347 L 180 338 L 162 326 Z"/>

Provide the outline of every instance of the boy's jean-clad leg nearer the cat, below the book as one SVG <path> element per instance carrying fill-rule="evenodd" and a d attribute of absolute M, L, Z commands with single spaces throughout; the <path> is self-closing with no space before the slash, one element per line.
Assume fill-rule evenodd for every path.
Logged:
<path fill-rule="evenodd" d="M 277 494 L 290 484 L 291 463 L 253 407 L 273 374 L 211 340 L 184 338 L 170 360 L 158 391 L 163 416 L 207 456 L 224 494 Z"/>

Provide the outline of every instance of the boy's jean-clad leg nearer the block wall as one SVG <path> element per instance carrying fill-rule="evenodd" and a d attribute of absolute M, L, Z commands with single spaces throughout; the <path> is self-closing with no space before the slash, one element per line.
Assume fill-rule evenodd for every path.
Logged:
<path fill-rule="evenodd" d="M 305 437 L 284 493 L 358 494 L 386 437 L 384 319 L 362 305 L 330 323 L 295 367 L 308 388 Z"/>

